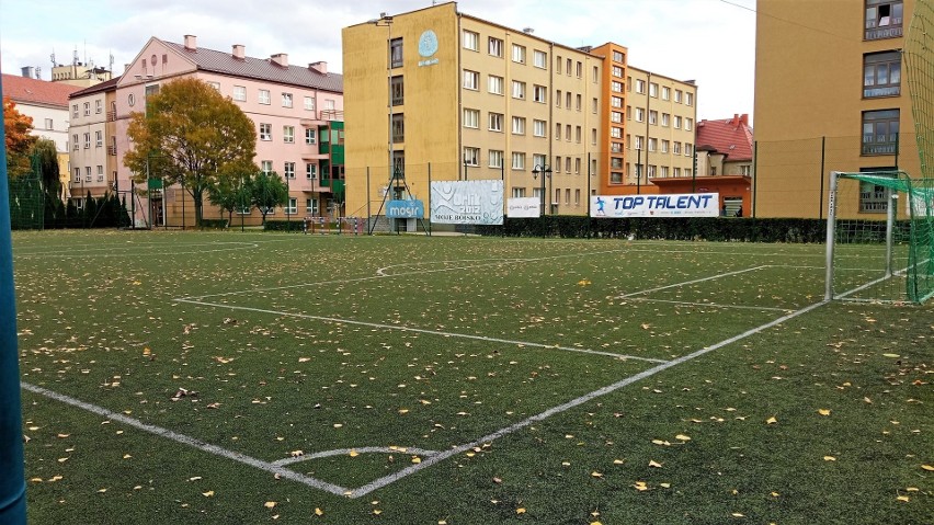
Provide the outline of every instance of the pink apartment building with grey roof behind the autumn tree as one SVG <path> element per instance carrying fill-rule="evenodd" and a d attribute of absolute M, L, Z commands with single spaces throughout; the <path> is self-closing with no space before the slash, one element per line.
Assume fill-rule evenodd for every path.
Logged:
<path fill-rule="evenodd" d="M 114 140 L 116 185 L 122 192 L 132 185 L 132 173 L 123 163 L 130 147 L 126 136 L 129 114 L 145 111 L 148 94 L 182 77 L 209 83 L 255 123 L 258 170 L 275 171 L 287 178 L 289 185 L 288 204 L 267 219 L 297 220 L 341 213 L 343 76 L 328 72 L 327 62 L 292 66 L 284 53 L 270 58 L 249 57 L 239 44 L 229 53 L 200 48 L 193 35 L 185 35 L 182 44 L 151 37 L 117 81 Z M 127 208 L 137 226 L 182 226 L 183 220 L 193 225 L 193 206 L 181 187 L 159 189 L 158 183 L 135 187 L 136 196 Z M 207 202 L 204 212 L 205 218 L 221 218 Z M 253 210 L 243 218 L 247 224 L 257 224 L 259 217 Z M 238 215 L 235 220 L 240 218 Z"/>

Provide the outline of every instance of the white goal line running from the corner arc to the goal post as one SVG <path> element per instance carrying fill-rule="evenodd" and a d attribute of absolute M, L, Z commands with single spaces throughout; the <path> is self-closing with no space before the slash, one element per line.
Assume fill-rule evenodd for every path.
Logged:
<path fill-rule="evenodd" d="M 350 498 L 361 498 L 363 495 L 366 495 L 369 492 L 373 492 L 374 490 L 386 487 L 387 484 L 396 482 L 396 481 L 398 481 L 398 480 L 400 480 L 400 479 L 402 479 L 402 478 L 405 478 L 409 475 L 415 473 L 423 468 L 426 468 L 426 467 L 430 467 L 430 466 L 432 466 L 436 463 L 443 461 L 443 460 L 445 460 L 445 459 L 447 459 L 452 456 L 455 456 L 455 455 L 460 454 L 463 452 L 469 450 L 474 447 L 480 446 L 481 444 L 490 443 L 493 440 L 498 440 L 498 438 L 503 437 L 505 435 L 512 434 L 512 433 L 514 433 L 519 430 L 522 430 L 522 429 L 524 429 L 524 427 L 526 427 L 526 426 L 528 426 L 533 423 L 536 423 L 538 421 L 550 418 L 551 415 L 559 414 L 561 412 L 568 411 L 568 410 L 570 410 L 574 407 L 578 407 L 580 404 L 583 404 L 583 403 L 585 403 L 585 402 L 588 402 L 588 401 L 590 401 L 594 398 L 614 392 L 614 391 L 616 391 L 616 390 L 618 390 L 618 389 L 620 389 L 625 386 L 631 385 L 631 384 L 634 384 L 638 380 L 645 379 L 647 377 L 651 377 L 651 376 L 658 374 L 659 372 L 667 370 L 668 368 L 671 368 L 673 366 L 686 363 L 691 359 L 697 358 L 697 357 L 699 357 L 704 354 L 707 354 L 709 352 L 713 352 L 717 349 L 720 349 L 720 347 L 726 346 L 728 344 L 732 344 L 737 341 L 743 340 L 743 339 L 745 339 L 750 335 L 756 334 L 756 333 L 759 333 L 763 330 L 770 329 L 770 328 L 775 327 L 777 324 L 781 324 L 785 321 L 794 319 L 798 316 L 807 313 L 807 312 L 809 312 L 809 311 L 811 311 L 811 310 L 813 310 L 813 309 L 816 309 L 820 306 L 823 306 L 825 304 L 827 304 L 827 301 L 816 303 L 813 305 L 801 308 L 800 310 L 796 310 L 796 311 L 793 311 L 791 313 L 779 317 L 778 319 L 775 319 L 774 321 L 770 321 L 765 324 L 761 324 L 756 328 L 747 330 L 745 332 L 743 332 L 739 335 L 734 335 L 730 339 L 720 341 L 719 343 L 713 344 L 710 346 L 706 346 L 706 347 L 700 349 L 700 350 L 693 352 L 691 354 L 677 357 L 676 359 L 669 361 L 668 363 L 658 365 L 653 368 L 649 368 L 649 369 L 641 372 L 639 374 L 636 374 L 634 376 L 629 376 L 629 377 L 627 377 L 627 378 L 625 378 L 620 381 L 614 383 L 613 385 L 608 385 L 606 387 L 594 390 L 590 393 L 585 393 L 585 395 L 583 395 L 583 396 L 581 396 L 577 399 L 572 399 L 572 400 L 570 400 L 570 401 L 568 401 L 563 404 L 559 404 L 557 407 L 550 408 L 550 409 L 548 409 L 548 410 L 546 410 L 546 411 L 544 411 L 544 412 L 542 412 L 537 415 L 533 415 L 528 419 L 525 419 L 523 421 L 514 423 L 510 426 L 506 426 L 504 429 L 500 429 L 497 432 L 493 432 L 492 434 L 487 434 L 483 437 L 480 437 L 479 440 L 472 441 L 472 442 L 464 444 L 464 445 L 458 445 L 454 448 L 451 448 L 448 450 L 445 450 L 443 453 L 440 453 L 440 454 L 431 456 L 426 459 L 423 459 L 420 464 L 411 465 L 411 466 L 406 467 L 405 469 L 402 469 L 398 472 L 391 473 L 389 476 L 384 476 L 383 478 L 379 478 L 379 479 L 374 480 L 374 481 L 372 481 L 372 482 L 369 482 L 369 483 L 367 483 L 363 487 L 354 489 L 352 491 L 352 493 L 350 493 L 348 495 Z"/>

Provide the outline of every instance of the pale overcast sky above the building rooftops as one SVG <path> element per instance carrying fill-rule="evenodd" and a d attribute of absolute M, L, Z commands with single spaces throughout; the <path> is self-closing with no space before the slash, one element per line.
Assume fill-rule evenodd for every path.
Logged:
<path fill-rule="evenodd" d="M 442 3 L 442 2 L 437 2 Z M 431 5 L 431 0 L 0 0 L 0 68 L 52 73 L 50 55 L 114 70 L 133 61 L 150 36 L 247 55 L 287 53 L 291 64 L 328 62 L 340 72 L 341 28 Z M 755 72 L 755 0 L 462 0 L 458 10 L 579 47 L 615 42 L 629 64 L 697 82 L 697 117 L 752 117 Z"/>

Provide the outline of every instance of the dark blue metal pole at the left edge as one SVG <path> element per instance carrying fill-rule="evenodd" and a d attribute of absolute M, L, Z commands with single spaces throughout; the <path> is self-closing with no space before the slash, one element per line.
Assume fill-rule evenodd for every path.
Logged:
<path fill-rule="evenodd" d="M 0 82 L 0 99 L 3 85 Z M 0 110 L 2 113 L 2 110 Z M 7 178 L 7 136 L 0 129 L 0 523 L 26 523 L 26 473 L 23 467 L 23 414 L 16 350 L 16 296 Z"/>

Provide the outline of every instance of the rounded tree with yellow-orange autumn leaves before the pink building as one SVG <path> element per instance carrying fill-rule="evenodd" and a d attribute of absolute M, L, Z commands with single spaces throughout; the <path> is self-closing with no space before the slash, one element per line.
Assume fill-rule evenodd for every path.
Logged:
<path fill-rule="evenodd" d="M 146 99 L 146 113 L 130 115 L 133 149 L 124 163 L 136 182 L 158 173 L 182 184 L 192 196 L 195 222 L 203 218 L 204 194 L 224 176 L 254 170 L 257 132 L 234 101 L 208 83 L 182 78 Z"/>

